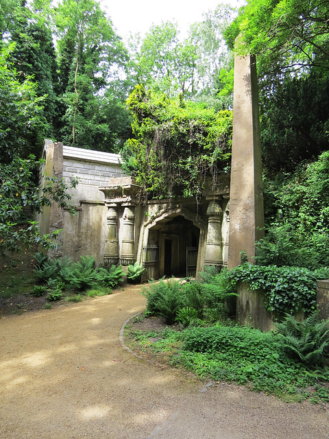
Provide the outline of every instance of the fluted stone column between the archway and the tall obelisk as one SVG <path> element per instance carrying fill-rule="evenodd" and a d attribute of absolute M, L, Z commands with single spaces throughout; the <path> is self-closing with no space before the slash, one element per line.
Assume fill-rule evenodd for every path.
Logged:
<path fill-rule="evenodd" d="M 217 201 L 210 201 L 208 209 L 208 234 L 206 241 L 206 265 L 223 265 L 223 242 L 221 239 L 221 219 L 223 211 Z"/>

